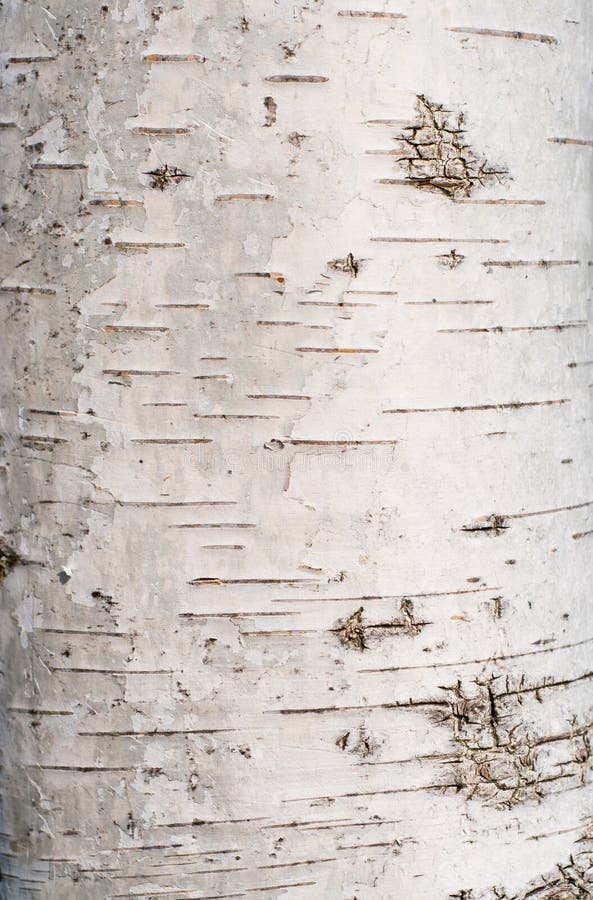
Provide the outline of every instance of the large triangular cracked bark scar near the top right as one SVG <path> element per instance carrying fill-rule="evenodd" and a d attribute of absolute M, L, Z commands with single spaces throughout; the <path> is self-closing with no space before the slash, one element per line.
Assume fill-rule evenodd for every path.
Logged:
<path fill-rule="evenodd" d="M 436 191 L 451 200 L 469 197 L 476 187 L 501 182 L 506 169 L 495 168 L 465 143 L 463 113 L 454 121 L 440 104 L 418 95 L 418 119 L 403 129 L 398 163 L 419 189 Z"/>

